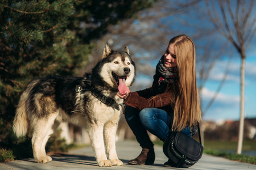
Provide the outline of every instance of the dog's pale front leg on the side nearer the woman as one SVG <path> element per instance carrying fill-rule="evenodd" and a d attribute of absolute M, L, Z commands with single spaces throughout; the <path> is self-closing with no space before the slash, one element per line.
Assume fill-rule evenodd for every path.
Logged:
<path fill-rule="evenodd" d="M 104 126 L 104 139 L 106 144 L 106 152 L 112 165 L 122 166 L 123 162 L 118 159 L 115 150 L 115 135 L 117 133 L 117 122 L 109 121 Z"/>

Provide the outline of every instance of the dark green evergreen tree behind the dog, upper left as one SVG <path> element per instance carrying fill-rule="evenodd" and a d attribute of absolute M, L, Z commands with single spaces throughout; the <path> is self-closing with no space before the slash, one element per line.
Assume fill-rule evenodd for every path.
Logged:
<path fill-rule="evenodd" d="M 152 0 L 0 0 L 0 142 L 7 143 L 15 105 L 28 82 L 73 75 L 110 24 L 134 17 Z M 10 142 L 10 141 L 9 141 Z"/>

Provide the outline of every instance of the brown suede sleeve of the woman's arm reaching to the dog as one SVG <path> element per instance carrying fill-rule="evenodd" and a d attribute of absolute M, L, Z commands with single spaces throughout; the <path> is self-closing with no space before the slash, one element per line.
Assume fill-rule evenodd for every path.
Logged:
<path fill-rule="evenodd" d="M 139 96 L 138 92 L 131 92 L 124 103 L 139 110 L 144 108 L 162 108 L 171 104 L 170 95 L 170 92 L 165 92 L 147 99 Z"/>

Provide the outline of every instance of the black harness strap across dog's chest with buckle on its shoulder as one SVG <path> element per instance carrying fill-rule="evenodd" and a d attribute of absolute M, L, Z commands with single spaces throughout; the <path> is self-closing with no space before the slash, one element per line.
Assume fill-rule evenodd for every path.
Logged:
<path fill-rule="evenodd" d="M 85 91 L 81 86 L 76 86 L 75 90 L 76 90 L 77 93 Z M 104 103 L 104 104 L 106 104 L 106 105 L 108 105 L 108 106 L 110 106 L 114 109 L 117 109 L 117 111 L 120 110 L 119 104 L 117 104 L 117 102 L 114 99 L 112 99 L 110 97 L 106 97 L 106 96 L 104 96 L 104 95 L 102 95 L 102 94 L 100 94 L 96 91 L 92 91 L 92 95 L 94 97 L 96 97 L 96 99 L 100 100 L 102 103 Z"/>

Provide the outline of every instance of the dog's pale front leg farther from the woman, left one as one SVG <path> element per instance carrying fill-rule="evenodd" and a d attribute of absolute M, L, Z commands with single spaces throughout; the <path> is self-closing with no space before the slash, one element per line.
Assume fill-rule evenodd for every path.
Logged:
<path fill-rule="evenodd" d="M 112 163 L 106 158 L 105 154 L 103 126 L 94 124 L 89 129 L 89 137 L 98 165 L 100 167 L 111 167 Z"/>

